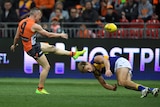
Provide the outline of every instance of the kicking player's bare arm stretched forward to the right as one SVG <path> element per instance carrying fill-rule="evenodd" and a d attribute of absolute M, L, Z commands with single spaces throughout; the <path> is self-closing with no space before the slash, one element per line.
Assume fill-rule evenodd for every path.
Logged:
<path fill-rule="evenodd" d="M 33 32 L 38 32 L 40 33 L 41 35 L 44 35 L 44 36 L 47 36 L 49 38 L 52 38 L 52 37 L 62 37 L 62 38 L 65 38 L 67 39 L 68 38 L 68 35 L 67 34 L 64 34 L 64 33 L 52 33 L 52 32 L 48 32 L 46 31 L 45 29 L 43 29 L 40 25 L 38 24 L 34 24 L 31 28 L 31 30 Z"/>

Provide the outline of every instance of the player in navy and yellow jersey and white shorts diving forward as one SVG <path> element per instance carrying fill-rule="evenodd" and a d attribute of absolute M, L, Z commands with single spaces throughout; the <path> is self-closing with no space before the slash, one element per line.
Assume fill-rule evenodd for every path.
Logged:
<path fill-rule="evenodd" d="M 127 89 L 141 91 L 141 98 L 146 97 L 148 93 L 152 93 L 156 97 L 159 93 L 159 88 L 149 88 L 133 82 L 131 80 L 131 64 L 123 57 L 97 55 L 91 60 L 91 62 L 82 61 L 78 63 L 78 69 L 82 73 L 92 72 L 99 83 L 109 90 L 115 90 L 116 86 L 107 84 L 103 79 L 102 74 L 105 74 L 107 77 L 116 74 L 118 85 Z"/>

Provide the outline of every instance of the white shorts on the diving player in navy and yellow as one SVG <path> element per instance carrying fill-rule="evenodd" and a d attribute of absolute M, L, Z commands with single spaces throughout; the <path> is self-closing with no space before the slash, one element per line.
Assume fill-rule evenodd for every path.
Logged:
<path fill-rule="evenodd" d="M 129 68 L 129 73 L 132 75 L 132 66 L 130 62 L 123 57 L 118 58 L 117 61 L 115 62 L 114 72 L 116 73 L 118 68 L 124 68 L 124 67 Z"/>

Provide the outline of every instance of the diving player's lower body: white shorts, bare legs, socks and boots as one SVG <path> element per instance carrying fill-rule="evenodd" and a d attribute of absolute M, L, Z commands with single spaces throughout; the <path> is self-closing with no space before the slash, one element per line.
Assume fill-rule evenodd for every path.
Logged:
<path fill-rule="evenodd" d="M 118 84 L 124 86 L 128 89 L 133 89 L 142 92 L 142 96 L 146 97 L 149 92 L 151 92 L 154 96 L 157 96 L 159 93 L 159 88 L 148 88 L 141 84 L 137 84 L 131 80 L 132 75 L 132 67 L 128 60 L 125 58 L 119 58 L 115 64 L 115 73 L 117 76 Z"/>

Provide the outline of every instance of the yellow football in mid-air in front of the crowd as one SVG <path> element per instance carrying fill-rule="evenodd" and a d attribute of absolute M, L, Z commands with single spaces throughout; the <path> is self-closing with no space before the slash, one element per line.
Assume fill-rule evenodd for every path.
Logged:
<path fill-rule="evenodd" d="M 107 24 L 104 26 L 104 29 L 105 29 L 107 32 L 113 33 L 113 32 L 115 32 L 115 31 L 117 31 L 117 26 L 116 26 L 114 23 L 107 23 Z"/>

